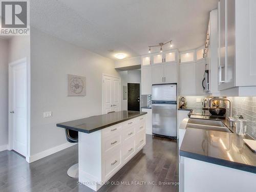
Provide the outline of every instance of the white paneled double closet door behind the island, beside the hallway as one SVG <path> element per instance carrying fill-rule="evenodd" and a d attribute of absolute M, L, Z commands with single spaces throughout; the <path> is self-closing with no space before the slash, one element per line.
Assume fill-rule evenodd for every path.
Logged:
<path fill-rule="evenodd" d="M 120 79 L 103 76 L 103 114 L 120 110 Z"/>

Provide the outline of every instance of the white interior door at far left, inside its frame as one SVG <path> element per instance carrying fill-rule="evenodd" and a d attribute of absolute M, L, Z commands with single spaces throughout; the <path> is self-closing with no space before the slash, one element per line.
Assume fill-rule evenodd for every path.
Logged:
<path fill-rule="evenodd" d="M 27 156 L 27 63 L 11 67 L 12 148 Z"/>

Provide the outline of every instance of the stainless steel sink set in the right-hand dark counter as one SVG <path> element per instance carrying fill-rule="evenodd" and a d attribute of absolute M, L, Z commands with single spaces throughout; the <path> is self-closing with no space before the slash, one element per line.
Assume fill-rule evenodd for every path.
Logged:
<path fill-rule="evenodd" d="M 222 121 L 215 120 L 188 119 L 186 128 L 232 133 Z"/>

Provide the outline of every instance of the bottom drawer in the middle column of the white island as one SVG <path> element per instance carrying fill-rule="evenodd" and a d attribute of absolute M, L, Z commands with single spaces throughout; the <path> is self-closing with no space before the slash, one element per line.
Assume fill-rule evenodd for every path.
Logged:
<path fill-rule="evenodd" d="M 123 162 L 129 161 L 135 154 L 135 137 L 126 140 L 122 147 Z"/>

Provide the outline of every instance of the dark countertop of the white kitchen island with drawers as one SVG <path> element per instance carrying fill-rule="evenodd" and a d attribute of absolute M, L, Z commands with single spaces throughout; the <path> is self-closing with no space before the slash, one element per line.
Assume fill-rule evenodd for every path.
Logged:
<path fill-rule="evenodd" d="M 104 129 L 105 127 L 109 127 L 145 114 L 147 114 L 147 112 L 119 111 L 109 114 L 87 117 L 83 119 L 77 119 L 73 121 L 67 121 L 63 123 L 57 123 L 56 126 L 83 133 L 93 133 L 98 130 Z"/>

